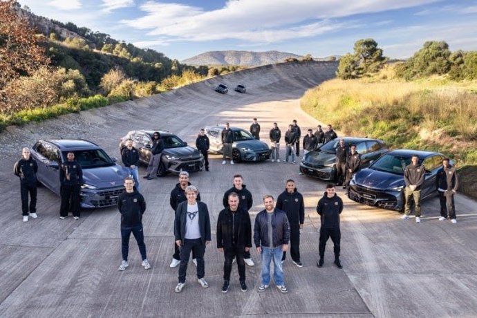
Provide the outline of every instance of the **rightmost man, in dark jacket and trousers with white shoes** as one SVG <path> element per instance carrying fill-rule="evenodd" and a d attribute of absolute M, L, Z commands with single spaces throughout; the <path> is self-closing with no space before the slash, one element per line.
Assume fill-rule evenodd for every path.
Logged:
<path fill-rule="evenodd" d="M 456 205 L 453 202 L 453 195 L 456 194 L 459 187 L 459 176 L 456 167 L 450 164 L 449 158 L 442 160 L 442 168 L 436 176 L 436 189 L 439 194 L 440 218 L 439 221 L 447 219 L 447 212 L 452 223 L 456 220 Z"/>

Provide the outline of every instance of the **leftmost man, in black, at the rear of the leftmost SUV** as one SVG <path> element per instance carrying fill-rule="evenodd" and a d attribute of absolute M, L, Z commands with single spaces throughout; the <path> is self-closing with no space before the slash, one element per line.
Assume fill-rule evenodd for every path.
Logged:
<path fill-rule="evenodd" d="M 13 173 L 20 178 L 21 214 L 23 221 L 28 222 L 28 216 L 37 218 L 37 171 L 38 165 L 30 157 L 30 149 L 21 150 L 21 159 L 15 162 Z M 30 205 L 28 205 L 30 194 Z"/>

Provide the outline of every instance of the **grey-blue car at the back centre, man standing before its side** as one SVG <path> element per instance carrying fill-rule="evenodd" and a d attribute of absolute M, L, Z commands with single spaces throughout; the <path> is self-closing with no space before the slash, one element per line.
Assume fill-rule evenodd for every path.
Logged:
<path fill-rule="evenodd" d="M 209 153 L 222 153 L 222 131 L 225 126 L 205 127 L 210 140 Z M 263 141 L 256 140 L 249 131 L 238 127 L 230 127 L 234 133 L 232 158 L 234 162 L 263 161 L 270 158 L 270 148 Z"/>

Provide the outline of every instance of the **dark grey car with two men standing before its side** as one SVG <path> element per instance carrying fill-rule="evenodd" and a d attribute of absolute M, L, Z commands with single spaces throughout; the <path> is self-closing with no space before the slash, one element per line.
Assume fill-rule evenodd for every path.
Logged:
<path fill-rule="evenodd" d="M 356 144 L 356 152 L 361 155 L 361 165 L 359 169 L 368 167 L 371 161 L 380 158 L 383 153 L 389 151 L 389 147 L 379 139 L 343 137 L 336 138 L 321 144 L 321 146 L 310 151 L 300 162 L 300 172 L 310 177 L 322 180 L 337 180 L 336 169 L 336 148 L 339 140 L 343 139 L 344 144 L 349 149 L 351 144 Z"/>

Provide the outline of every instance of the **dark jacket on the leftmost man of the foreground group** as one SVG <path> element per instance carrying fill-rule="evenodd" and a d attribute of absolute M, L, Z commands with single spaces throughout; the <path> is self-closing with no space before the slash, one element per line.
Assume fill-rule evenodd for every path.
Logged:
<path fill-rule="evenodd" d="M 124 191 L 118 197 L 118 210 L 121 214 L 122 227 L 142 225 L 142 214 L 146 211 L 146 201 L 136 189 L 131 193 Z"/>

